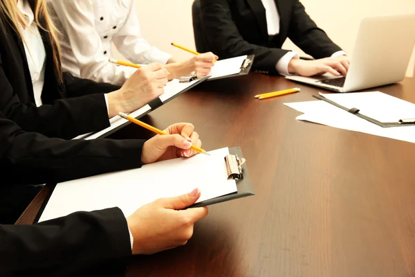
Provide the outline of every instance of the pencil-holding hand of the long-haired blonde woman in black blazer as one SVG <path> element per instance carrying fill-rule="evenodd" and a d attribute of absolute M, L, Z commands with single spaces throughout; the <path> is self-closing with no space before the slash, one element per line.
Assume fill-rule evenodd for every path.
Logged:
<path fill-rule="evenodd" d="M 161 64 L 149 64 L 137 69 L 118 91 L 107 94 L 109 117 L 119 111 L 134 111 L 160 96 L 167 84 L 169 72 Z"/>

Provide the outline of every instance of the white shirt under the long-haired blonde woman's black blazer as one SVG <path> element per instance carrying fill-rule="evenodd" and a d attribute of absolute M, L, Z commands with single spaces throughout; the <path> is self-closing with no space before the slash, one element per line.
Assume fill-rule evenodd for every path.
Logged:
<path fill-rule="evenodd" d="M 35 15 L 27 0 L 18 0 L 17 7 L 27 19 L 27 26 L 21 26 L 21 33 L 24 37 L 24 51 L 32 78 L 33 93 L 37 107 L 42 106 L 42 90 L 45 80 L 46 51 L 40 36 L 37 24 L 34 22 Z"/>

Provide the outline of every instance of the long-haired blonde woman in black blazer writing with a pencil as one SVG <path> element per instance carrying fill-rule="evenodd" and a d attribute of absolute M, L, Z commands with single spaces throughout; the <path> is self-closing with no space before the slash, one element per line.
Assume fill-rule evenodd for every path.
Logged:
<path fill-rule="evenodd" d="M 73 139 L 109 127 L 160 96 L 168 74 L 150 64 L 120 88 L 62 73 L 46 0 L 0 1 L 0 111 L 26 132 Z"/>

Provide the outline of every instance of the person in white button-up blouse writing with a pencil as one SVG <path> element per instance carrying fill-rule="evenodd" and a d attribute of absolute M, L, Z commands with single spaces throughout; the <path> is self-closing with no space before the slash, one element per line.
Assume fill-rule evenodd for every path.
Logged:
<path fill-rule="evenodd" d="M 133 63 L 165 65 L 171 73 L 169 80 L 192 71 L 198 76 L 208 75 L 218 59 L 213 53 L 203 53 L 178 62 L 172 55 L 151 46 L 140 33 L 132 0 L 48 0 L 48 3 L 51 17 L 62 33 L 62 67 L 80 78 L 123 84 L 136 71 L 108 62 L 113 58 L 111 42 Z"/>

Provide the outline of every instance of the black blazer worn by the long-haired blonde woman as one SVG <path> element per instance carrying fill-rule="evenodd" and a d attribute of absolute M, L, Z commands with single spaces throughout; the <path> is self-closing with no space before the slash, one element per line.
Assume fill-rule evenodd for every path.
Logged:
<path fill-rule="evenodd" d="M 46 50 L 46 70 L 42 102 L 36 107 L 24 45 L 8 25 L 0 26 L 0 111 L 26 132 L 72 139 L 87 132 L 109 127 L 104 93 L 119 87 L 98 84 L 64 73 L 58 82 L 52 45 L 42 28 Z"/>

